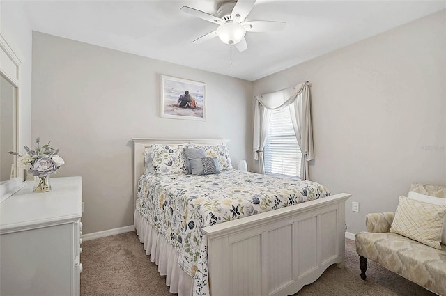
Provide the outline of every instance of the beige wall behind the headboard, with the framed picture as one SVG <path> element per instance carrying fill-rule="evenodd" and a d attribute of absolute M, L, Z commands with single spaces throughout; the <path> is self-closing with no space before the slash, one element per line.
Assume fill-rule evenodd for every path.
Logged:
<path fill-rule="evenodd" d="M 206 121 L 160 118 L 160 75 L 206 83 Z M 133 224 L 132 137 L 230 139 L 234 164 L 252 142 L 252 83 L 33 32 L 33 137 L 52 141 L 82 176 L 84 233 Z"/>

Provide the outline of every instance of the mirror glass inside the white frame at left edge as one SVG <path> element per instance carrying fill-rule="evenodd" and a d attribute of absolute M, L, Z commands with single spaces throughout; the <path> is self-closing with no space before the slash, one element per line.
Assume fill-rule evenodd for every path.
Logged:
<path fill-rule="evenodd" d="M 15 155 L 15 97 L 16 88 L 0 75 L 0 184 L 17 176 Z"/>

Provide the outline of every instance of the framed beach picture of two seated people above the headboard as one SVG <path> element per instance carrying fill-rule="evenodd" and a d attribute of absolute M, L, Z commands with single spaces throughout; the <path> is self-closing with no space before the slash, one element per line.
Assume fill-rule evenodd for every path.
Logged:
<path fill-rule="evenodd" d="M 206 84 L 161 75 L 160 116 L 187 120 L 206 120 Z"/>

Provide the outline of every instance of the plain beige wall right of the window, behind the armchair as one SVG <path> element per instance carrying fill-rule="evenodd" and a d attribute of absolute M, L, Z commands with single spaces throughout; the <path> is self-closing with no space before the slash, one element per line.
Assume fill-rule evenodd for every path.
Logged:
<path fill-rule="evenodd" d="M 394 211 L 411 182 L 446 185 L 446 10 L 254 81 L 253 94 L 305 80 L 310 176 L 353 194 L 349 232 L 365 230 L 369 212 Z"/>

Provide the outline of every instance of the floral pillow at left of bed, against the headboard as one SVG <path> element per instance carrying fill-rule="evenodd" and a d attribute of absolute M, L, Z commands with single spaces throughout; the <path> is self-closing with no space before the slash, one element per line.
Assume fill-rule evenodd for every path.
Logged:
<path fill-rule="evenodd" d="M 155 175 L 171 175 L 187 173 L 184 148 L 187 144 L 162 145 L 152 144 L 151 150 L 153 173 Z"/>

